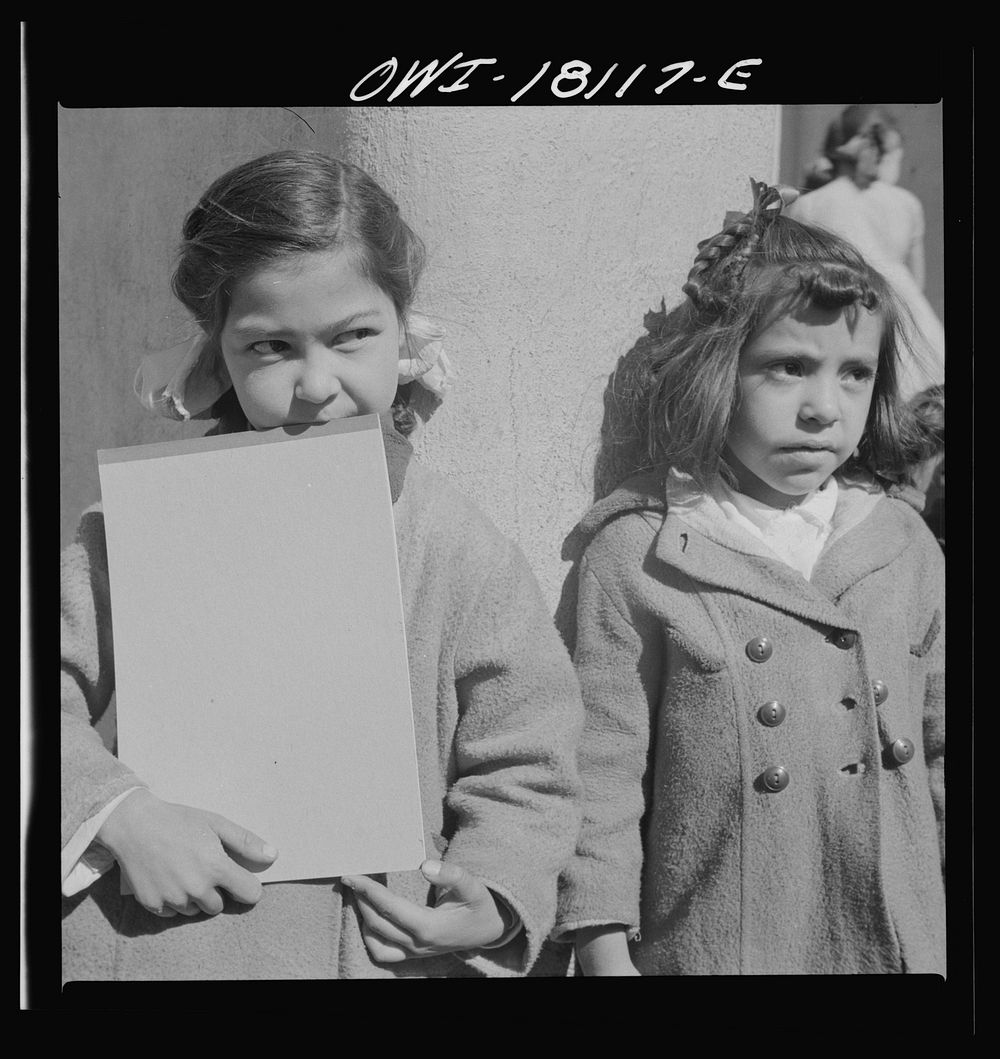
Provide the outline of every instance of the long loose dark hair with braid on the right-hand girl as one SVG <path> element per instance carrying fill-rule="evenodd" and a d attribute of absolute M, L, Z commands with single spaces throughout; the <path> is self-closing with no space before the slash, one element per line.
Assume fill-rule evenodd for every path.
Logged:
<path fill-rule="evenodd" d="M 858 454 L 844 469 L 867 471 L 883 484 L 905 481 L 919 441 L 897 379 L 900 356 L 912 351 L 901 326 L 906 309 L 882 275 L 839 236 L 778 211 L 765 216 L 755 210 L 700 246 L 684 284 L 689 300 L 669 315 L 653 344 L 648 385 L 638 398 L 646 418 L 647 466 L 676 468 L 703 489 L 720 475 L 735 484 L 724 449 L 739 400 L 740 352 L 776 319 L 810 305 L 864 308 L 881 317 L 868 423 Z"/>

